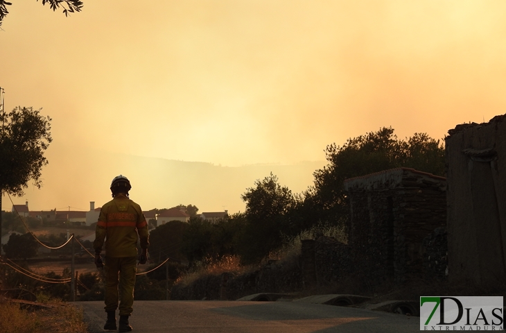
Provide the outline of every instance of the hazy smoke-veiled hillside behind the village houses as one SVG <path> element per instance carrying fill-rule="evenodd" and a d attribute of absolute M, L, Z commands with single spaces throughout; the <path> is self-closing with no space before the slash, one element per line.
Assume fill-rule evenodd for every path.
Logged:
<path fill-rule="evenodd" d="M 62 153 L 62 146 L 58 147 Z M 203 211 L 244 211 L 241 194 L 254 186 L 256 179 L 272 171 L 281 185 L 294 192 L 304 191 L 313 183 L 313 171 L 326 164 L 300 162 L 293 165 L 246 165 L 221 167 L 204 162 L 184 162 L 162 158 L 139 157 L 102 151 L 65 151 L 69 158 L 44 167 L 42 189 L 28 189 L 26 196 L 15 203 L 28 200 L 30 210 L 62 207 L 89 209 L 89 201 L 100 207 L 110 200 L 109 185 L 114 176 L 123 174 L 132 182 L 131 198 L 143 209 L 172 207 L 179 203 L 193 204 Z M 91 160 L 87 156 L 94 156 Z M 61 160 L 61 159 L 60 159 Z M 224 207 L 225 206 L 225 207 Z M 10 210 L 10 201 L 3 200 L 3 210 Z"/>

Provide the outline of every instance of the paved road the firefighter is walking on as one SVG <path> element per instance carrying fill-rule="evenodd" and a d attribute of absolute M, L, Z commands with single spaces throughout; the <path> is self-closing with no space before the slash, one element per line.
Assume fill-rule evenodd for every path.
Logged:
<path fill-rule="evenodd" d="M 91 333 L 104 332 L 103 302 L 75 302 Z M 213 300 L 135 301 L 134 333 L 330 333 L 419 332 L 419 318 L 332 305 L 299 302 Z"/>

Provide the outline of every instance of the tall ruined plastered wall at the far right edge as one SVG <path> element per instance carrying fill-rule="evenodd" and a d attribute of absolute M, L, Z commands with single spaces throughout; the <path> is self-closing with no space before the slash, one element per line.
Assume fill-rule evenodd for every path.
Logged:
<path fill-rule="evenodd" d="M 506 114 L 448 130 L 448 279 L 506 278 Z"/>

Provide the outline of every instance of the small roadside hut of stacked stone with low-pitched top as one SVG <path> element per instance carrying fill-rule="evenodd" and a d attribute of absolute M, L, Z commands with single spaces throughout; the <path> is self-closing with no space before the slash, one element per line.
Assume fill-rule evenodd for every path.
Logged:
<path fill-rule="evenodd" d="M 446 180 L 398 168 L 344 181 L 351 219 L 348 245 L 366 284 L 423 277 L 422 242 L 446 225 Z"/>

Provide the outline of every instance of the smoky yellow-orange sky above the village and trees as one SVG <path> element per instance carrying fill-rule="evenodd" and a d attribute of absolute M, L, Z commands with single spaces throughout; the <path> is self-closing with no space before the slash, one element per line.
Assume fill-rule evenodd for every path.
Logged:
<path fill-rule="evenodd" d="M 265 164 L 322 167 L 327 144 L 382 126 L 442 139 L 506 110 L 503 0 L 83 2 L 64 17 L 12 1 L 1 26 L 6 111 L 53 119 L 44 187 L 14 199 L 31 210 L 99 207 L 124 173 L 145 210 L 243 211 Z M 264 169 L 216 187 L 186 170 L 174 187 L 164 160 Z M 302 169 L 279 171 L 281 185 L 306 189 Z"/>

